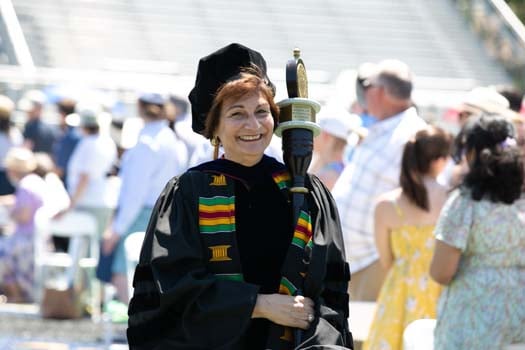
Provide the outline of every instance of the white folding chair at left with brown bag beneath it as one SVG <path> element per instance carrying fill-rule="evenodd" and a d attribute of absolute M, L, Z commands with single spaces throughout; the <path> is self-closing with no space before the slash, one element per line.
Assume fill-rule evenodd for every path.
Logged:
<path fill-rule="evenodd" d="M 35 241 L 35 281 L 39 293 L 43 290 L 47 280 L 47 273 L 51 269 L 63 271 L 59 282 L 63 288 L 77 282 L 79 271 L 88 271 L 90 287 L 91 312 L 94 319 L 100 317 L 100 287 L 95 278 L 95 269 L 99 257 L 99 238 L 97 222 L 93 215 L 69 211 L 59 219 L 50 219 L 46 213 L 37 213 Z M 51 236 L 69 238 L 67 253 L 50 251 L 47 248 Z M 40 300 L 38 295 L 36 300 Z"/>

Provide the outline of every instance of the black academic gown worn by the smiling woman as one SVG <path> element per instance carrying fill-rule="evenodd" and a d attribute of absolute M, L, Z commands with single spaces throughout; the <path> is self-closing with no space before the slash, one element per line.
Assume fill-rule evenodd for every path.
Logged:
<path fill-rule="evenodd" d="M 268 173 L 285 172 L 284 165 L 273 158 L 265 156 L 261 162 Z M 154 208 L 135 271 L 127 331 L 130 349 L 246 349 L 245 335 L 253 322 L 251 314 L 261 286 L 243 279 L 235 209 L 228 212 L 228 208 L 235 208 L 239 181 L 242 179 L 235 169 L 218 160 L 189 170 L 166 185 Z M 297 265 L 304 271 L 297 272 L 305 276 L 301 294 L 314 300 L 316 319 L 302 332 L 300 348 L 353 348 L 347 324 L 350 274 L 337 208 L 319 179 L 308 176 L 306 185 L 313 239 L 305 249 L 305 259 Z M 287 194 L 285 186 L 276 186 Z M 205 217 L 207 205 L 219 208 L 220 225 L 207 224 L 213 222 Z M 261 219 L 271 219 L 271 210 L 261 213 Z M 218 227 L 220 232 L 215 232 Z M 271 249 L 269 243 L 261 240 L 261 249 Z M 288 263 L 289 258 L 290 253 L 282 268 L 287 273 L 296 268 Z M 293 343 L 275 337 L 281 334 L 280 326 L 272 327 L 277 333 L 270 332 L 266 348 L 292 349 Z"/>

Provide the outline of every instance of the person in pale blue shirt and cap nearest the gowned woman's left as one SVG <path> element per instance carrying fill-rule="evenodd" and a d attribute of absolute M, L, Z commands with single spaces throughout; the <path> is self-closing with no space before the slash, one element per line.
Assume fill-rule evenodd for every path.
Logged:
<path fill-rule="evenodd" d="M 122 156 L 117 209 L 104 232 L 102 254 L 113 255 L 113 259 L 101 259 L 99 264 L 111 264 L 110 280 L 123 303 L 128 302 L 124 239 L 132 232 L 146 230 L 162 189 L 173 176 L 183 173 L 188 164 L 186 146 L 168 127 L 164 103 L 161 95 L 151 93 L 138 100 L 138 113 L 144 119 L 144 128 L 137 144 Z M 100 267 L 99 270 L 104 270 Z"/>

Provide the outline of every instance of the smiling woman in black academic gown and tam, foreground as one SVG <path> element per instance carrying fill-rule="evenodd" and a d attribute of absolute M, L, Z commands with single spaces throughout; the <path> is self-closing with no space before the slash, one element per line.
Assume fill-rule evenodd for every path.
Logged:
<path fill-rule="evenodd" d="M 296 225 L 290 175 L 264 155 L 274 95 L 256 51 L 230 44 L 200 60 L 193 129 L 224 155 L 159 197 L 135 272 L 130 349 L 353 347 L 335 203 L 307 176 L 309 208 Z"/>

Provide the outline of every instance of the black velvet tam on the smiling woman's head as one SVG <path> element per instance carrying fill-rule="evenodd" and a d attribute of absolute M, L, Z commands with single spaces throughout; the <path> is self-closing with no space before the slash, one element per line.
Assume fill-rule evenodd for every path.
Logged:
<path fill-rule="evenodd" d="M 230 44 L 200 59 L 195 86 L 188 96 L 191 102 L 193 131 L 199 134 L 204 132 L 206 115 L 217 90 L 241 73 L 243 68 L 252 65 L 261 70 L 267 84 L 275 89 L 266 74 L 266 61 L 262 55 L 241 44 Z"/>

